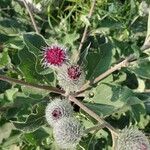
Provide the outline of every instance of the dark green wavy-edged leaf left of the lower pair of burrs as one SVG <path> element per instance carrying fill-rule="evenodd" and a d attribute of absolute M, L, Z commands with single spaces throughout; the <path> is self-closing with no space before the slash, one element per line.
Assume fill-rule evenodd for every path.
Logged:
<path fill-rule="evenodd" d="M 38 106 L 36 113 L 30 114 L 25 122 L 13 122 L 13 124 L 18 130 L 22 130 L 26 133 L 33 132 L 45 124 L 44 112 L 45 108 Z"/>

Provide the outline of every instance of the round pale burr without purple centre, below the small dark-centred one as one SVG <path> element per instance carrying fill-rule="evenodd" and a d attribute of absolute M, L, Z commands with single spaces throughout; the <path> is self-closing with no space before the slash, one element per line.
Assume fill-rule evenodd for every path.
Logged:
<path fill-rule="evenodd" d="M 84 128 L 76 118 L 64 117 L 55 124 L 53 133 L 60 148 L 75 149 L 84 133 Z"/>

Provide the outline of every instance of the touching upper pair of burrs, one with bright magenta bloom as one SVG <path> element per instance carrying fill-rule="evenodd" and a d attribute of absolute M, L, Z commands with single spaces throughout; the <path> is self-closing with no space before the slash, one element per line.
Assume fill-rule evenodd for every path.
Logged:
<path fill-rule="evenodd" d="M 60 87 L 69 93 L 78 91 L 84 83 L 85 74 L 79 65 L 69 62 L 67 49 L 52 45 L 43 50 L 43 64 L 55 69 Z"/>

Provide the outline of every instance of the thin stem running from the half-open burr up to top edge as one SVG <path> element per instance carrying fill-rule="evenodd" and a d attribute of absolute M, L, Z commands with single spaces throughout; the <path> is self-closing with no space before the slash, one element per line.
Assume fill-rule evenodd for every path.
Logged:
<path fill-rule="evenodd" d="M 91 17 L 92 17 L 95 4 L 96 4 L 96 0 L 93 0 L 93 1 L 92 1 L 92 4 L 91 4 L 90 12 L 89 12 L 89 14 L 88 14 L 88 19 L 89 19 L 89 20 L 90 20 Z M 86 36 L 87 36 L 88 27 L 89 27 L 89 25 L 87 24 L 87 25 L 85 26 L 85 28 L 84 28 L 84 32 L 83 32 L 83 35 L 82 35 L 82 39 L 81 39 L 81 42 L 80 42 L 80 45 L 79 45 L 79 48 L 78 48 L 78 53 L 77 53 L 77 55 L 75 56 L 75 62 L 76 62 L 76 61 L 78 60 L 78 58 L 79 58 L 80 51 L 81 51 L 81 49 L 82 49 L 83 43 L 84 43 L 84 41 L 85 41 L 85 39 L 86 39 Z"/>

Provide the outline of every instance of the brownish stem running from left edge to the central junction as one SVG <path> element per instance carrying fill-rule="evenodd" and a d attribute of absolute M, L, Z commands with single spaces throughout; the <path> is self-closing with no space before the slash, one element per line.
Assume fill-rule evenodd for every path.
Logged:
<path fill-rule="evenodd" d="M 25 82 L 25 81 L 22 81 L 22 80 L 6 77 L 4 75 L 0 75 L 0 80 L 7 81 L 7 82 L 10 82 L 10 83 L 17 83 L 19 85 L 25 85 L 25 86 L 32 87 L 32 88 L 44 89 L 46 91 L 50 91 L 50 92 L 58 93 L 58 94 L 62 94 L 62 95 L 64 94 L 64 91 L 62 91 L 58 88 L 52 87 L 52 86 L 28 83 L 28 82 Z"/>

